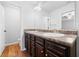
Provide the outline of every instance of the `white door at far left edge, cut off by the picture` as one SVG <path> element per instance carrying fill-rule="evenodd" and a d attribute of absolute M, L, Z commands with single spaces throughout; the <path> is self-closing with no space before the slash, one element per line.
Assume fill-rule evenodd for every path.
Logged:
<path fill-rule="evenodd" d="M 4 22 L 4 8 L 0 4 L 0 55 L 5 47 L 5 22 Z"/>

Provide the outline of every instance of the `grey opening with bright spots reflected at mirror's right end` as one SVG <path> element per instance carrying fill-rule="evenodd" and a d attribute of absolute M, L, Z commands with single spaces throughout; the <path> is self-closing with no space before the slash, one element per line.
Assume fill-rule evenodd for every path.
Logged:
<path fill-rule="evenodd" d="M 67 11 L 62 14 L 62 29 L 75 29 L 75 11 Z"/>

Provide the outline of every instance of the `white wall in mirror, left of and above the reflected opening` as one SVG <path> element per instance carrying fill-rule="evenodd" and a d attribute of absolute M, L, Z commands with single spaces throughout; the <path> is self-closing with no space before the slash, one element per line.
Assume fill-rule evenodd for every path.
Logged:
<path fill-rule="evenodd" d="M 50 29 L 61 29 L 62 28 L 62 13 L 67 11 L 75 10 L 74 3 L 65 5 L 51 13 L 51 26 Z"/>

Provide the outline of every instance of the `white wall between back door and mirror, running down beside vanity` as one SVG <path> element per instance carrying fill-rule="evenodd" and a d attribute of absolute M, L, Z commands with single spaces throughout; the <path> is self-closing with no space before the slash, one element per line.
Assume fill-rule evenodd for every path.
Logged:
<path fill-rule="evenodd" d="M 24 40 L 24 29 L 34 29 L 34 20 L 31 18 L 32 7 L 30 5 L 25 5 L 21 8 L 21 50 L 25 50 L 25 40 Z"/>

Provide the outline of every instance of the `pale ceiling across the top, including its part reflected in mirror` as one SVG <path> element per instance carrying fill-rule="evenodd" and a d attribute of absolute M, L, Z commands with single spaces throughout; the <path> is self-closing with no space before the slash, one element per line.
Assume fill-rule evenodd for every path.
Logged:
<path fill-rule="evenodd" d="M 73 3 L 72 1 L 3 1 L 1 2 L 3 5 L 13 4 L 18 7 L 23 7 L 26 5 L 30 5 L 32 8 L 41 3 L 42 12 L 51 13 L 52 11 L 61 8 L 69 3 Z"/>

